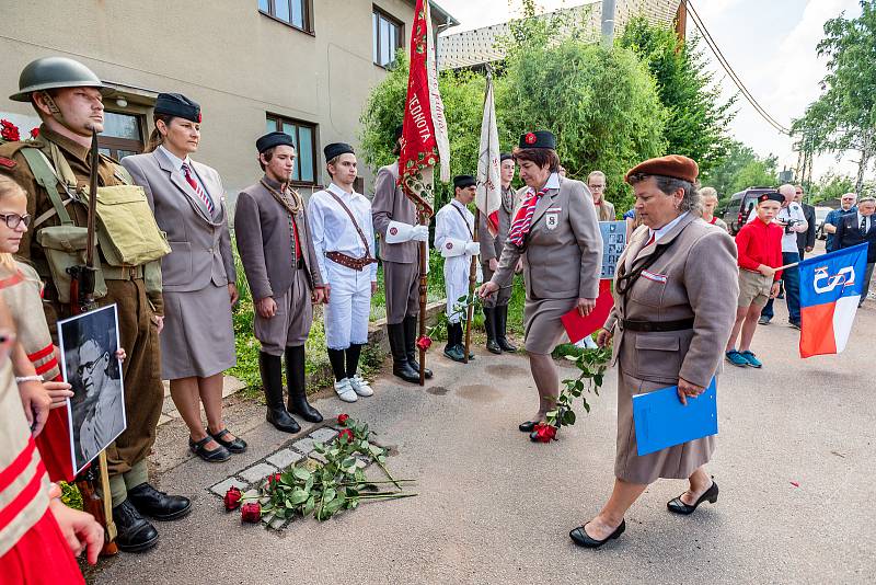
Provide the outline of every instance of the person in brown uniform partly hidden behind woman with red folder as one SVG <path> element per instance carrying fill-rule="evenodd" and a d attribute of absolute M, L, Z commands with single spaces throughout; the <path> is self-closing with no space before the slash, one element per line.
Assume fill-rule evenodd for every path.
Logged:
<path fill-rule="evenodd" d="M 511 213 L 517 203 L 517 197 L 511 188 L 516 169 L 514 157 L 510 152 L 503 152 L 499 157 L 499 179 L 502 180 L 502 204 L 498 208 L 498 231 L 494 238 L 487 229 L 487 218 L 481 214 L 481 226 L 477 232 L 481 242 L 481 269 L 484 279 L 489 280 L 499 267 L 502 248 L 508 239 L 508 228 L 511 226 Z M 519 273 L 521 265 L 516 266 Z M 486 329 L 486 348 L 494 354 L 502 352 L 516 352 L 507 337 L 508 302 L 511 300 L 514 280 L 503 286 L 496 295 L 484 299 L 484 328 Z"/>

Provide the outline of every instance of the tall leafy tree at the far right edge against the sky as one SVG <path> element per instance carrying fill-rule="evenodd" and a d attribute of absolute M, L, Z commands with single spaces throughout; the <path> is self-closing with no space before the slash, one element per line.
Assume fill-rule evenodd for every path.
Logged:
<path fill-rule="evenodd" d="M 876 0 L 861 0 L 862 14 L 825 23 L 819 56 L 827 56 L 825 93 L 794 121 L 793 131 L 818 152 L 857 150 L 855 191 L 876 158 Z"/>

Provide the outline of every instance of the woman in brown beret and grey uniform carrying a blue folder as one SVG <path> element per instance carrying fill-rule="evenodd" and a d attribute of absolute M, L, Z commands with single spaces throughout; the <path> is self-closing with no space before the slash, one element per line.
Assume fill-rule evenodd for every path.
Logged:
<path fill-rule="evenodd" d="M 735 321 L 739 294 L 736 244 L 726 231 L 700 217 L 698 167 L 685 157 L 652 159 L 633 168 L 626 182 L 642 218 L 618 262 L 614 308 L 599 332 L 614 339 L 618 365 L 618 446 L 614 490 L 599 515 L 569 536 L 599 548 L 625 529 L 624 514 L 658 478 L 685 479 L 690 486 L 668 503 L 691 514 L 717 501 L 718 486 L 705 472 L 715 437 L 676 445 L 639 457 L 633 395 L 678 386 L 687 404 L 717 374 Z"/>

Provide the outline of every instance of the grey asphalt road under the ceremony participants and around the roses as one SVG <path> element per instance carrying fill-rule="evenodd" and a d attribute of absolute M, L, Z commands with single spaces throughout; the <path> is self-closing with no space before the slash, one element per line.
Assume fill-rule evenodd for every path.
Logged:
<path fill-rule="evenodd" d="M 614 374 L 589 416 L 560 441 L 534 445 L 517 431 L 535 406 L 525 357 L 481 349 L 458 366 L 436 347 L 425 390 L 384 375 L 371 399 L 315 402 L 326 416 L 368 421 L 397 449 L 389 459 L 396 477 L 418 478 L 419 496 L 367 503 L 323 524 L 297 520 L 280 534 L 241 525 L 206 489 L 289 437 L 261 408 L 239 402 L 231 427 L 251 449 L 228 463 L 192 460 L 185 434 L 162 427 L 158 483 L 192 495 L 196 509 L 158 525 L 152 551 L 103 562 L 95 582 L 873 583 L 876 301 L 858 311 L 845 353 L 806 360 L 784 302 L 776 312 L 754 339 L 765 367 L 727 366 L 719 378 L 708 469 L 721 496 L 693 516 L 666 511 L 684 484 L 661 480 L 629 512 L 621 539 L 577 549 L 568 530 L 611 490 Z"/>

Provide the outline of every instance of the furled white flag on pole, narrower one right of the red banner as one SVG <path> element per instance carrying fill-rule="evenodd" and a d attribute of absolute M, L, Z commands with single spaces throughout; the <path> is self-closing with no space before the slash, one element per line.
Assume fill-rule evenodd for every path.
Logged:
<path fill-rule="evenodd" d="M 502 206 L 502 153 L 496 128 L 496 103 L 493 100 L 493 74 L 486 73 L 484 119 L 481 122 L 481 153 L 477 157 L 477 194 L 474 204 L 486 218 L 486 228 L 494 238 L 499 231 Z"/>

